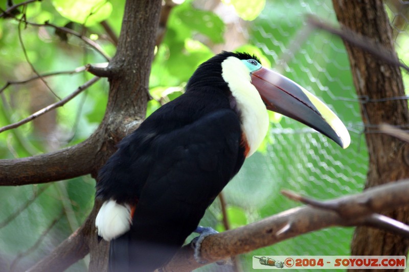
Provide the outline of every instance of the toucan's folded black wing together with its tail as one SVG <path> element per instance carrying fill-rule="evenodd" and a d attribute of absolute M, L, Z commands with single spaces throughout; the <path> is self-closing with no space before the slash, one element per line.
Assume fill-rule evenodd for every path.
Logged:
<path fill-rule="evenodd" d="M 150 156 L 139 164 L 147 167 L 138 169 L 143 175 L 147 171 L 147 178 L 138 188 L 131 230 L 111 241 L 111 271 L 162 266 L 244 161 L 239 118 L 230 109 L 214 111 L 150 141 Z"/>

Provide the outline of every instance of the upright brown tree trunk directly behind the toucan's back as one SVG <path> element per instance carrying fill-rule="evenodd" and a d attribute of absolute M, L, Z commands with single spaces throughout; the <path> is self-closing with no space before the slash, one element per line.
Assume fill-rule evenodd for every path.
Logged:
<path fill-rule="evenodd" d="M 149 75 L 161 12 L 161 0 L 127 1 L 122 21 L 117 53 L 109 63 L 112 71 L 108 105 L 101 126 L 105 126 L 107 141 L 97 157 L 101 166 L 115 151 L 115 144 L 130 133 L 145 118 L 149 99 Z M 126 126 L 124 126 L 124 123 Z M 96 176 L 96 173 L 94 173 Z M 109 243 L 98 243 L 95 216 L 100 203 L 95 203 L 89 239 L 89 271 L 106 271 Z"/>

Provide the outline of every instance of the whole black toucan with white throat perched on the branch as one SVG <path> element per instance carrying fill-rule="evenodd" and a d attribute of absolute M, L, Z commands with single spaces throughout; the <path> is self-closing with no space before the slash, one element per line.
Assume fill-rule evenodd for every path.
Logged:
<path fill-rule="evenodd" d="M 103 204 L 95 224 L 110 241 L 110 271 L 152 271 L 175 254 L 257 151 L 267 110 L 343 148 L 350 143 L 343 122 L 323 102 L 262 67 L 256 56 L 215 55 L 198 66 L 185 93 L 126 136 L 99 171 L 96 197 Z"/>

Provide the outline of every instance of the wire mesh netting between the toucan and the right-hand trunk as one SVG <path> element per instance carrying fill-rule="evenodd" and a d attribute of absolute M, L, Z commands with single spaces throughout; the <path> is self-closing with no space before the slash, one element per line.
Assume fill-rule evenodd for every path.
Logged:
<path fill-rule="evenodd" d="M 404 62 L 409 53 L 409 3 L 391 1 L 385 6 L 394 27 L 396 50 Z M 273 68 L 278 66 L 283 75 L 330 105 L 346 124 L 351 145 L 342 150 L 325 136 L 289 118 L 271 123 L 266 152 L 249 158 L 224 191 L 229 203 L 244 207 L 249 221 L 298 206 L 280 194 L 282 189 L 325 200 L 360 192 L 365 185 L 368 170 L 365 127 L 347 52 L 338 37 L 321 31 L 309 32 L 307 14 L 337 24 L 330 1 L 267 1 L 257 19 L 238 29 L 262 49 Z M 283 63 L 287 55 L 291 58 Z M 407 78 L 404 76 L 405 86 Z M 219 208 L 213 209 L 217 213 Z M 324 229 L 256 250 L 241 256 L 244 270 L 251 269 L 253 255 L 350 255 L 353 231 Z"/>

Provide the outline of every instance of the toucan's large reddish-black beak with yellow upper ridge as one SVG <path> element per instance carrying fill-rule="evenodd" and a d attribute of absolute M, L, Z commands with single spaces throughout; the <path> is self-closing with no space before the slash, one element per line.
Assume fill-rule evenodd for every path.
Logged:
<path fill-rule="evenodd" d="M 346 149 L 351 142 L 347 128 L 327 105 L 312 93 L 280 75 L 263 68 L 251 73 L 252 84 L 264 104 L 275 111 L 298 120 L 332 139 Z"/>

